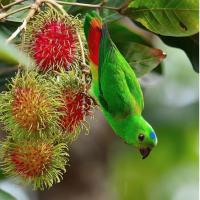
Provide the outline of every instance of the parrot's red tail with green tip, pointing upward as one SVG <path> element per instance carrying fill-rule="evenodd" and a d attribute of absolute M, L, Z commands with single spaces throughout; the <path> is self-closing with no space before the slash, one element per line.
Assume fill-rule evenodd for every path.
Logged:
<path fill-rule="evenodd" d="M 99 47 L 102 36 L 102 19 L 96 12 L 88 13 L 85 17 L 84 32 L 88 43 L 89 59 L 99 65 Z"/>

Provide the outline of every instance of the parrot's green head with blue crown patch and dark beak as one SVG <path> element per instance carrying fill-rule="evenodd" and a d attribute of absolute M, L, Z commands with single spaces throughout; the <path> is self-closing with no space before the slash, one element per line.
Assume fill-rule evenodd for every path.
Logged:
<path fill-rule="evenodd" d="M 134 146 L 139 149 L 142 158 L 146 158 L 157 145 L 157 137 L 151 125 L 142 117 L 134 116 Z"/>

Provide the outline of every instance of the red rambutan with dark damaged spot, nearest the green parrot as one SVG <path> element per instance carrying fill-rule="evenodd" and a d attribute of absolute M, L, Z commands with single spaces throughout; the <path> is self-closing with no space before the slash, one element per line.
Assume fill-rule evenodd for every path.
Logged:
<path fill-rule="evenodd" d="M 92 116 L 94 101 L 89 96 L 87 83 L 72 71 L 58 73 L 61 90 L 59 125 L 61 132 L 71 142 L 77 138 L 81 128 L 87 128 L 86 116 Z"/>

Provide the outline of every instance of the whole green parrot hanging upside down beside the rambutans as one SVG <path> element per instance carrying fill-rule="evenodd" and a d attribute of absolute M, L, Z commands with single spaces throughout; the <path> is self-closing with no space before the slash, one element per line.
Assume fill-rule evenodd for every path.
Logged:
<path fill-rule="evenodd" d="M 84 32 L 92 73 L 91 95 L 116 135 L 139 149 L 144 159 L 157 145 L 157 137 L 142 117 L 143 94 L 135 73 L 96 12 L 86 14 Z"/>

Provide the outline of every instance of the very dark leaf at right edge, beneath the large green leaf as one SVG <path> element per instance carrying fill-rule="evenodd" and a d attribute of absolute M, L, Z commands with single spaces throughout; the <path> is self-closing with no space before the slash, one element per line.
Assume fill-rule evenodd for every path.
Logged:
<path fill-rule="evenodd" d="M 167 45 L 184 50 L 192 63 L 193 69 L 199 72 L 199 34 L 190 37 L 161 36 L 160 38 Z"/>

